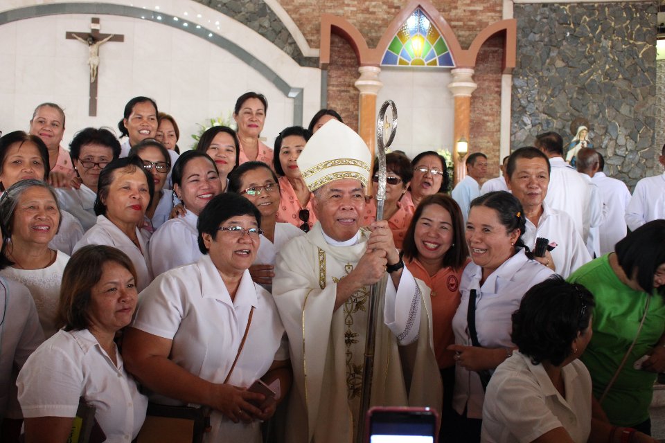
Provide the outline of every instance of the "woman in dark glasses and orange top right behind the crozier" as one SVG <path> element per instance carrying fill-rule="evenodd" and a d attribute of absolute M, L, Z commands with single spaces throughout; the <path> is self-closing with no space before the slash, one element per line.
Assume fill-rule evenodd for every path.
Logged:
<path fill-rule="evenodd" d="M 411 180 L 411 162 L 405 155 L 391 152 L 386 155 L 386 167 L 386 199 L 383 204 L 383 219 L 388 220 L 388 226 L 393 233 L 393 242 L 398 249 L 401 249 L 411 217 L 414 216 L 412 208 L 404 208 L 400 203 L 400 198 L 407 192 L 407 183 Z M 379 188 L 378 168 L 379 164 L 375 161 L 372 174 L 374 198 L 366 204 L 363 226 L 369 226 L 376 219 L 375 198 Z"/>

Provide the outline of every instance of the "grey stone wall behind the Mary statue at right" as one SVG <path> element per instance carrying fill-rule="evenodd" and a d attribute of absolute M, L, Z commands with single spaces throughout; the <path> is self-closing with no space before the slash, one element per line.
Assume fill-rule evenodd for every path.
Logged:
<path fill-rule="evenodd" d="M 583 117 L 605 172 L 629 187 L 657 174 L 656 3 L 515 5 L 511 145 L 545 131 L 567 145 Z"/>

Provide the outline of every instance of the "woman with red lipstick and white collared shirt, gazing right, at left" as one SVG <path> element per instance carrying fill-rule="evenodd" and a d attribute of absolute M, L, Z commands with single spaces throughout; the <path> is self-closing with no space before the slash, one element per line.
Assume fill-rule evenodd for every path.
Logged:
<path fill-rule="evenodd" d="M 148 239 L 140 229 L 145 210 L 152 203 L 154 182 L 137 156 L 116 159 L 99 174 L 95 213 L 97 223 L 74 246 L 74 252 L 89 244 L 104 244 L 123 251 L 136 270 L 139 291 L 152 282 Z"/>

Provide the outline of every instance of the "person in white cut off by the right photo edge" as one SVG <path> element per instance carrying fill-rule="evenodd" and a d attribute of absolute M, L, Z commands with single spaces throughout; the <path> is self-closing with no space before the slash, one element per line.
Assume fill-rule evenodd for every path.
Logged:
<path fill-rule="evenodd" d="M 665 166 L 665 145 L 658 160 Z M 665 219 L 665 172 L 638 181 L 626 208 L 626 224 L 630 230 L 657 219 Z"/>

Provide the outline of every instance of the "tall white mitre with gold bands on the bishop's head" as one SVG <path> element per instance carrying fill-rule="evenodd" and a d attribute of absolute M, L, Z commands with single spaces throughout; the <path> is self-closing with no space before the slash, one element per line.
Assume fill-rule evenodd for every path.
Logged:
<path fill-rule="evenodd" d="M 365 187 L 369 181 L 367 145 L 353 129 L 335 119 L 310 138 L 296 162 L 312 192 L 335 180 L 357 179 Z"/>

